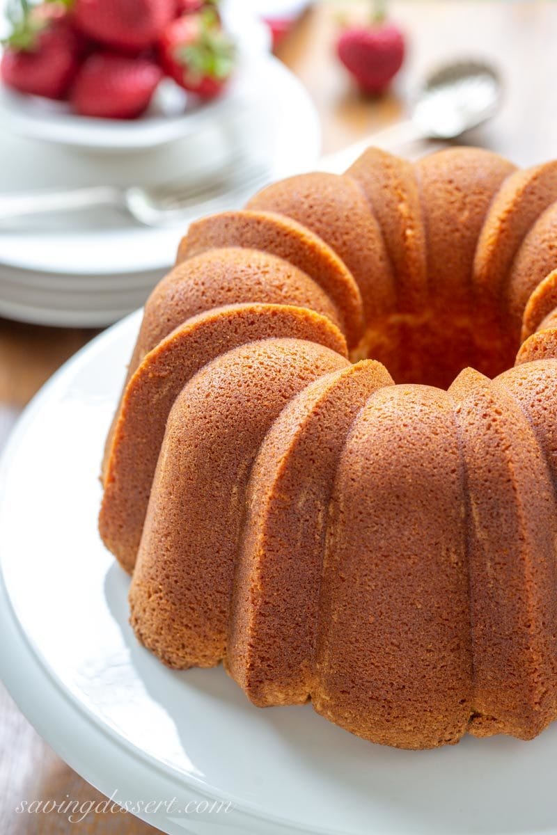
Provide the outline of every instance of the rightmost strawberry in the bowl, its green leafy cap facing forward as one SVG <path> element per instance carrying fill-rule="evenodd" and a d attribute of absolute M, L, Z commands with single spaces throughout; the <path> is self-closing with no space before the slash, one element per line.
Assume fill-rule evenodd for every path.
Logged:
<path fill-rule="evenodd" d="M 220 94 L 234 60 L 234 44 L 211 8 L 176 18 L 160 40 L 160 63 L 165 73 L 202 99 Z"/>

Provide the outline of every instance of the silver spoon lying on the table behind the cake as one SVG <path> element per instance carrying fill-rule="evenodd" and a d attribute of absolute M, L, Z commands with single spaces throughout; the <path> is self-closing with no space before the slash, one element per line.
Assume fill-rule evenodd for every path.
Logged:
<path fill-rule="evenodd" d="M 322 158 L 319 168 L 340 173 L 369 145 L 396 149 L 422 139 L 456 139 L 490 119 L 502 98 L 498 73 L 481 61 L 457 61 L 426 78 L 408 119 Z"/>

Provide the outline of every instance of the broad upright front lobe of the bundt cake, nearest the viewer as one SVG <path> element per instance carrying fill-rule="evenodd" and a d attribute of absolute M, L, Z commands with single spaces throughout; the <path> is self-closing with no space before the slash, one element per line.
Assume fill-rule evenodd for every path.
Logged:
<path fill-rule="evenodd" d="M 317 639 L 314 706 L 352 733 L 418 748 L 458 741 L 466 729 L 463 506 L 451 397 L 379 389 L 337 472 Z"/>

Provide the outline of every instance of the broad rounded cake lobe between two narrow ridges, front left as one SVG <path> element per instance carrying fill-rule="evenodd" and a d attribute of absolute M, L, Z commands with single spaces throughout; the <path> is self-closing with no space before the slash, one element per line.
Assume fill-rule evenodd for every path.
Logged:
<path fill-rule="evenodd" d="M 225 656 L 251 464 L 285 403 L 347 364 L 315 342 L 250 342 L 217 357 L 176 399 L 130 589 L 134 630 L 166 664 L 212 666 Z"/>

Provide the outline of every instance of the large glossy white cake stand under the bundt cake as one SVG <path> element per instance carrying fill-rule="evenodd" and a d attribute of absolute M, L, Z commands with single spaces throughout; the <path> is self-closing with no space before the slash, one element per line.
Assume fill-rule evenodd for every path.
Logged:
<path fill-rule="evenodd" d="M 122 801 L 219 798 L 143 815 L 205 835 L 557 832 L 557 724 L 532 742 L 374 746 L 310 706 L 258 710 L 222 669 L 173 672 L 134 640 L 129 579 L 96 529 L 99 461 L 139 314 L 43 389 L 0 471 L 0 672 L 47 741 Z M 212 817 L 211 817 L 212 816 Z"/>

